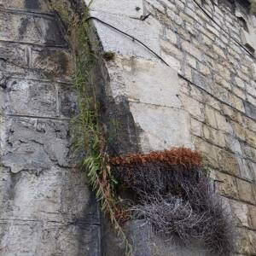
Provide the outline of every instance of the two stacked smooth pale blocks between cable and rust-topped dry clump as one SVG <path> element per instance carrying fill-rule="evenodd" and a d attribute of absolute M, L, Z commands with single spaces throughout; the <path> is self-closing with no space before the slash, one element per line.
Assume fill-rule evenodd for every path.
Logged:
<path fill-rule="evenodd" d="M 116 57 L 108 72 L 107 96 L 116 103 L 124 98 L 129 102 L 143 152 L 177 145 L 193 148 L 189 116 L 179 99 L 177 72 L 159 61 L 128 57 Z"/>

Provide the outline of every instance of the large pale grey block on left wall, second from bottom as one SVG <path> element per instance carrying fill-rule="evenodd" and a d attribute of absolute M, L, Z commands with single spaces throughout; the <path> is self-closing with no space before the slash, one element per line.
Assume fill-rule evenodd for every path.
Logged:
<path fill-rule="evenodd" d="M 51 166 L 35 175 L 1 168 L 0 218 L 99 224 L 100 215 L 84 172 Z"/>

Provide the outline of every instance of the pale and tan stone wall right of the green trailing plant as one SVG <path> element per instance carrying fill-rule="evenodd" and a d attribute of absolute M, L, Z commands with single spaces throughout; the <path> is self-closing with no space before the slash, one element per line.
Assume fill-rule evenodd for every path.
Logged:
<path fill-rule="evenodd" d="M 196 2 L 199 5 L 194 0 L 93 1 L 91 16 L 154 51 L 91 21 L 96 28 L 90 35 L 94 50 L 98 55 L 115 53 L 113 60 L 102 59 L 105 79 L 99 86 L 104 88 L 105 114 L 121 127 L 115 153 L 183 145 L 201 152 L 236 222 L 234 255 L 255 255 L 254 17 L 245 1 Z M 139 236 L 136 232 L 133 238 Z M 141 242 L 135 249 L 136 255 L 154 254 L 145 254 L 150 249 Z M 160 252 L 172 255 L 172 250 Z"/>

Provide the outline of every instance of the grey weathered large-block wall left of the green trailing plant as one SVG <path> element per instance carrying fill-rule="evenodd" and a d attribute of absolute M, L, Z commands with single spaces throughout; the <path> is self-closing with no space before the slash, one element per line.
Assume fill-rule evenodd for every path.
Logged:
<path fill-rule="evenodd" d="M 46 1 L 0 1 L 0 255 L 100 255 L 100 216 L 70 157 L 73 58 Z"/>

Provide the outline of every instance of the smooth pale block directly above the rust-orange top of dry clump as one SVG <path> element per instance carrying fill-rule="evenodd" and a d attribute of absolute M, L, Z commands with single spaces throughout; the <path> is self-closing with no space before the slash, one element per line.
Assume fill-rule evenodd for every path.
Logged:
<path fill-rule="evenodd" d="M 140 132 L 143 152 L 185 146 L 194 148 L 189 135 L 189 116 L 182 109 L 130 102 Z"/>

